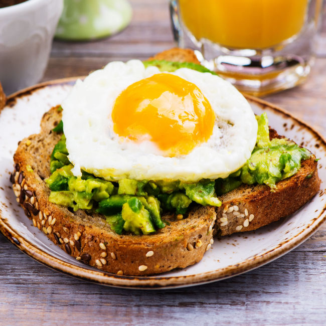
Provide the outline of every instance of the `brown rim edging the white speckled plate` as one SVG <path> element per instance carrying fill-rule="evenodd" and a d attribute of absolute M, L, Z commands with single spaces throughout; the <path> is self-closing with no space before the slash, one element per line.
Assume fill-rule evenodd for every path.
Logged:
<path fill-rule="evenodd" d="M 49 87 L 54 85 L 65 85 L 71 84 L 76 81 L 76 79 L 83 79 L 85 76 L 81 77 L 70 77 L 63 79 L 56 79 L 44 83 L 37 84 L 35 86 L 23 89 L 19 92 L 16 92 L 10 95 L 7 98 L 7 105 L 10 103 L 15 103 L 17 97 L 24 97 L 31 95 L 34 91 L 39 90 L 43 87 Z M 309 124 L 303 122 L 302 120 L 296 118 L 291 113 L 281 109 L 280 107 L 273 105 L 269 102 L 261 100 L 259 98 L 245 95 L 245 97 L 255 104 L 259 105 L 261 108 L 268 107 L 269 109 L 274 110 L 278 114 L 282 114 L 284 117 L 291 118 L 295 120 L 305 129 L 308 129 L 310 133 L 314 135 L 316 140 L 320 142 L 320 145 L 323 145 L 326 152 L 326 141 L 322 135 L 314 130 Z M 13 106 L 13 105 L 12 105 Z M 0 111 L 1 113 L 1 111 Z M 160 288 L 172 288 L 172 287 L 182 287 L 187 285 L 199 285 L 203 283 L 209 283 L 213 281 L 222 280 L 229 278 L 247 271 L 250 271 L 254 268 L 262 266 L 275 258 L 278 258 L 291 249 L 295 248 L 307 238 L 309 238 L 317 228 L 325 221 L 326 219 L 326 204 L 322 208 L 321 213 L 314 219 L 311 220 L 311 223 L 307 225 L 303 230 L 300 230 L 295 236 L 279 243 L 275 248 L 253 257 L 246 259 L 245 261 L 229 265 L 224 268 L 220 268 L 214 271 L 198 273 L 194 275 L 187 276 L 126 276 L 126 275 L 116 275 L 111 273 L 102 272 L 100 270 L 92 270 L 84 267 L 79 267 L 71 263 L 67 263 L 58 258 L 51 256 L 45 251 L 39 249 L 38 247 L 32 245 L 29 241 L 21 237 L 16 230 L 13 230 L 11 226 L 6 223 L 6 218 L 3 218 L 0 213 L 0 231 L 4 236 L 15 244 L 21 251 L 26 253 L 28 256 L 34 258 L 35 260 L 41 262 L 42 264 L 63 272 L 65 274 L 84 279 L 91 282 L 96 282 L 102 285 L 109 285 L 115 287 L 124 287 L 124 288 L 137 288 L 137 289 L 160 289 Z"/>

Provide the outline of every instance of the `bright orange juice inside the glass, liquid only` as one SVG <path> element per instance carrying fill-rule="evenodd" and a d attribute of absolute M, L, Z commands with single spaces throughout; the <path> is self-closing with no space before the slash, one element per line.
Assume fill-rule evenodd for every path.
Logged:
<path fill-rule="evenodd" d="M 300 32 L 308 0 L 179 0 L 196 37 L 238 49 L 266 49 Z"/>

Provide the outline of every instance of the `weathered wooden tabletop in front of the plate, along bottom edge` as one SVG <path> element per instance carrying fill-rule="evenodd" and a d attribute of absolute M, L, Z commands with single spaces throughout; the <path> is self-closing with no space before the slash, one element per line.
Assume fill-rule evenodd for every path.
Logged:
<path fill-rule="evenodd" d="M 286 256 L 229 280 L 144 292 L 59 274 L 0 236 L 2 324 L 24 323 L 26 313 L 30 324 L 323 324 L 325 238 L 323 228 Z"/>

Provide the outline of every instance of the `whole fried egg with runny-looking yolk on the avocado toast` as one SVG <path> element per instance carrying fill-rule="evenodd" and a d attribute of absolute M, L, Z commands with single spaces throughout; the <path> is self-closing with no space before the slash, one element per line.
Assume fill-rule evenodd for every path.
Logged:
<path fill-rule="evenodd" d="M 69 160 L 106 180 L 226 178 L 250 157 L 257 121 L 227 81 L 188 68 L 111 62 L 62 103 Z"/>

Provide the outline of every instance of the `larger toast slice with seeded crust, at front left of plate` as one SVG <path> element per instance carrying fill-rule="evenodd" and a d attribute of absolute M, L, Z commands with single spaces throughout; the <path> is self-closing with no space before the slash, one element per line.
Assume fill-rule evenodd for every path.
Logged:
<path fill-rule="evenodd" d="M 195 206 L 181 221 L 162 216 L 170 225 L 153 235 L 135 236 L 111 231 L 100 214 L 72 213 L 49 202 L 44 180 L 50 176 L 50 155 L 60 139 L 52 129 L 60 119 L 57 108 L 45 113 L 41 132 L 23 139 L 14 155 L 13 189 L 34 226 L 77 260 L 111 273 L 149 275 L 200 261 L 213 243 L 212 207 Z"/>

